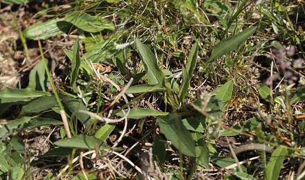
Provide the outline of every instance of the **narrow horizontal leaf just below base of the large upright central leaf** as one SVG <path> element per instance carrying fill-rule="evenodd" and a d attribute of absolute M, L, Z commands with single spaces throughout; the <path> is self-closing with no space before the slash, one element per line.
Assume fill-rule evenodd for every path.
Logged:
<path fill-rule="evenodd" d="M 141 84 L 133 87 L 129 87 L 125 93 L 145 93 L 145 92 L 156 92 L 166 91 L 165 87 L 160 84 Z"/>

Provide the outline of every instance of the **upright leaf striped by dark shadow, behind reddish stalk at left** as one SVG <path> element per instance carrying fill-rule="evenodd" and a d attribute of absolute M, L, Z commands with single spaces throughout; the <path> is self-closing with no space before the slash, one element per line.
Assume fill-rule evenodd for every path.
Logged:
<path fill-rule="evenodd" d="M 30 71 L 30 82 L 28 82 L 27 88 L 37 91 L 46 91 L 49 84 L 50 82 L 46 75 L 46 69 L 44 69 L 44 62 L 40 61 L 32 71 Z"/>

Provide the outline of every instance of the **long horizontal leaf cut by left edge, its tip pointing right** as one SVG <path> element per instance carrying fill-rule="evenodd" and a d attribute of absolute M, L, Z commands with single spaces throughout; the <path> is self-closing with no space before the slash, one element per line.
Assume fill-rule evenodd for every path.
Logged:
<path fill-rule="evenodd" d="M 1 103 L 28 101 L 41 96 L 51 96 L 51 93 L 35 91 L 33 89 L 10 89 L 8 87 L 0 90 Z"/>

